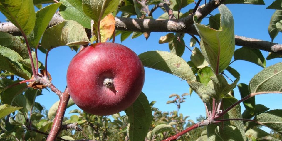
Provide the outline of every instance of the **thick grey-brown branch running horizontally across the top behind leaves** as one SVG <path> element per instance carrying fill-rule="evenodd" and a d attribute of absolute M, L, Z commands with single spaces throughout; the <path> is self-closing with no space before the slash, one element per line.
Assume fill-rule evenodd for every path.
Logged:
<path fill-rule="evenodd" d="M 198 8 L 197 11 L 187 17 L 181 19 L 134 19 L 134 18 L 115 18 L 115 26 L 117 30 L 123 31 L 138 31 L 138 32 L 179 32 L 198 35 L 194 26 L 193 16 L 198 19 L 203 19 L 214 9 L 216 9 L 223 0 L 211 0 L 204 7 Z M 51 27 L 59 22 L 65 21 L 57 12 L 48 27 Z M 11 22 L 0 23 L 0 31 L 11 33 L 14 36 L 20 35 L 20 31 Z M 268 52 L 282 54 L 282 44 L 271 43 L 254 38 L 235 36 L 235 43 L 238 46 L 245 46 L 254 49 L 260 49 Z"/>

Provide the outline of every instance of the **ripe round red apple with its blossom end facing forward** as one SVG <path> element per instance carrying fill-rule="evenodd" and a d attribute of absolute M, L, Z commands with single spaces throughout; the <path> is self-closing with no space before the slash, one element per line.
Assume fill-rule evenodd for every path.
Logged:
<path fill-rule="evenodd" d="M 110 80 L 109 87 L 105 81 Z M 71 60 L 67 86 L 74 103 L 87 113 L 112 115 L 140 95 L 145 70 L 139 57 L 117 43 L 95 43 Z"/>

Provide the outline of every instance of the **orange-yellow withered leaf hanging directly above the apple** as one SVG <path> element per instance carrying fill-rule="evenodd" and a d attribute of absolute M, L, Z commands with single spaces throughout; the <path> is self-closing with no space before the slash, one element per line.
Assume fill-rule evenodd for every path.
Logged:
<path fill-rule="evenodd" d="M 115 17 L 112 14 L 107 15 L 100 22 L 101 43 L 107 41 L 115 31 Z"/>

